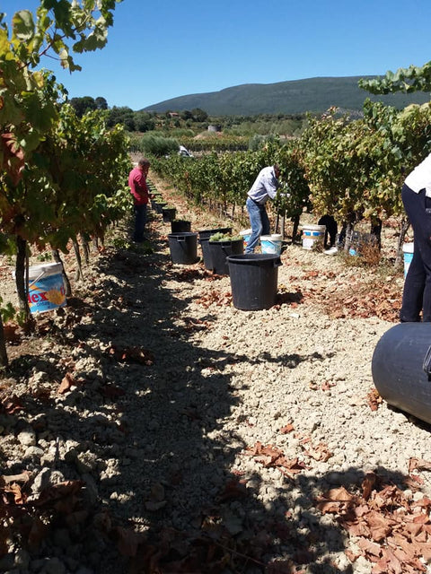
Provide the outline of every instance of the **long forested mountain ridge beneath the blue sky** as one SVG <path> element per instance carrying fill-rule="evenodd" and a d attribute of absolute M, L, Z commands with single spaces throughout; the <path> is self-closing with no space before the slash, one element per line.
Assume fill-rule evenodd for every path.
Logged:
<path fill-rule="evenodd" d="M 418 91 L 411 94 L 394 93 L 382 96 L 369 94 L 358 87 L 361 78 L 380 76 L 321 76 L 276 83 L 243 83 L 219 91 L 187 94 L 163 100 L 144 111 L 183 111 L 203 109 L 210 116 L 256 116 L 259 114 L 322 113 L 331 106 L 342 109 L 362 109 L 364 101 L 383 101 L 395 108 L 410 103 L 425 103 L 431 95 Z"/>

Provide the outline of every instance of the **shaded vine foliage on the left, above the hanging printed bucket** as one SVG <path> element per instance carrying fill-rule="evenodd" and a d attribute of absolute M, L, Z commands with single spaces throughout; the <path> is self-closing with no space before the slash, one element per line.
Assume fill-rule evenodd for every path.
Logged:
<path fill-rule="evenodd" d="M 78 232 L 101 236 L 128 209 L 128 139 L 120 126 L 107 129 L 104 112 L 79 118 L 63 105 L 33 160 L 17 186 L 0 187 L 4 234 L 65 250 Z"/>

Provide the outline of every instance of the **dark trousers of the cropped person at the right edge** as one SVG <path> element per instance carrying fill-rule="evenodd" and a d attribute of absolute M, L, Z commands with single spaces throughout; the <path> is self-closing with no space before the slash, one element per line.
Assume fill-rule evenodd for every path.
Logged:
<path fill-rule="evenodd" d="M 431 197 L 404 184 L 402 203 L 414 232 L 414 252 L 404 283 L 400 320 L 431 321 Z M 428 211 L 429 210 L 429 211 Z"/>

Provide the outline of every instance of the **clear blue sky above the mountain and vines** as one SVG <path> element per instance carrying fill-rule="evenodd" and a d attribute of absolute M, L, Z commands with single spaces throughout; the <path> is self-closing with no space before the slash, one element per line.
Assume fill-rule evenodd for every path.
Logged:
<path fill-rule="evenodd" d="M 0 0 L 9 22 L 36 0 Z M 242 83 L 385 74 L 431 60 L 430 0 L 123 0 L 82 72 L 44 65 L 69 97 L 142 109 Z"/>

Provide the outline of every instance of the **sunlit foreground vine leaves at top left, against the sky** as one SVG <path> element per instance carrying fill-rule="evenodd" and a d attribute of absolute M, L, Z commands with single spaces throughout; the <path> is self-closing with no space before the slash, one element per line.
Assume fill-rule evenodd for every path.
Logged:
<path fill-rule="evenodd" d="M 80 69 L 72 52 L 105 45 L 119 1 L 45 1 L 36 17 L 29 10 L 15 13 L 11 32 L 3 22 L 4 14 L 0 14 L 0 166 L 7 173 L 8 185 L 16 186 L 20 181 L 25 161 L 31 161 L 29 154 L 56 123 L 58 102 L 65 95 L 52 74 L 31 70 L 50 52 L 71 71 Z M 2 211 L 3 207 L 0 204 Z"/>

